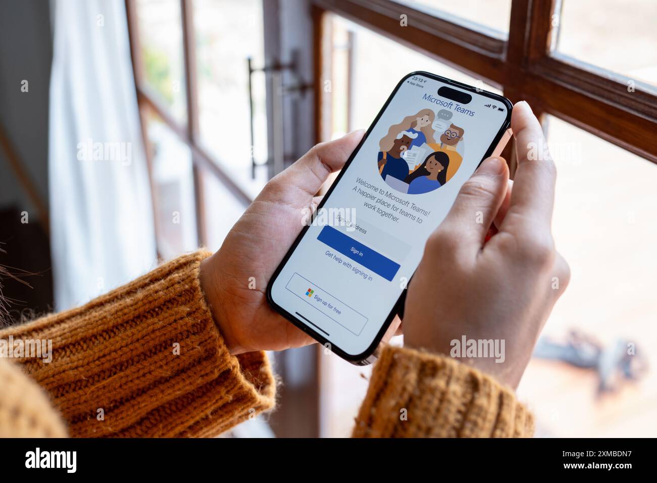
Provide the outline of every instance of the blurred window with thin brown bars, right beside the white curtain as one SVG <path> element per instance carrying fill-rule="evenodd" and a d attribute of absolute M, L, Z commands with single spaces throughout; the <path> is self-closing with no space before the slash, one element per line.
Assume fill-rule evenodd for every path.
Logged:
<path fill-rule="evenodd" d="M 264 62 L 262 2 L 127 0 L 126 7 L 158 252 L 170 258 L 210 242 L 206 205 L 219 200 L 217 192 L 204 196 L 211 182 L 204 177 L 222 183 L 226 206 L 246 206 L 266 182 L 255 166 L 267 160 L 265 87 L 247 60 L 254 69 Z M 227 41 L 236 35 L 244 41 Z"/>

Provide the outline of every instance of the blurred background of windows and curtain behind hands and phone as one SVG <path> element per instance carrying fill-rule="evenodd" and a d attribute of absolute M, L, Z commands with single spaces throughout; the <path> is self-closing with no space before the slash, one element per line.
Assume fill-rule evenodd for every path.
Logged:
<path fill-rule="evenodd" d="M 572 282 L 518 389 L 536 436 L 657 436 L 655 26 L 654 0 L 3 2 L 4 323 L 217 250 L 267 179 L 427 70 L 529 101 L 556 160 Z M 279 409 L 232 436 L 348 436 L 370 369 L 272 357 Z"/>

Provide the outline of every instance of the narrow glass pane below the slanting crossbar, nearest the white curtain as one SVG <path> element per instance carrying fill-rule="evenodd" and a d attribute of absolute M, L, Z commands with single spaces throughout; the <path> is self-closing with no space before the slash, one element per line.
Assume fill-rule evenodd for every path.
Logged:
<path fill-rule="evenodd" d="M 198 248 L 192 155 L 189 147 L 150 112 L 147 135 L 157 203 L 158 248 L 168 260 Z"/>

